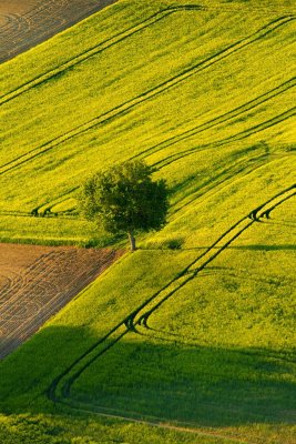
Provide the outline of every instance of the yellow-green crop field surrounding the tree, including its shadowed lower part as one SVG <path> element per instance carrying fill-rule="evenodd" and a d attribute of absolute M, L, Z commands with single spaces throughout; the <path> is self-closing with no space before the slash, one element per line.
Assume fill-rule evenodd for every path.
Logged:
<path fill-rule="evenodd" d="M 295 14 L 122 0 L 0 67 L 0 241 L 122 245 L 75 202 L 122 160 L 171 202 L 1 362 L 1 443 L 295 444 Z"/>

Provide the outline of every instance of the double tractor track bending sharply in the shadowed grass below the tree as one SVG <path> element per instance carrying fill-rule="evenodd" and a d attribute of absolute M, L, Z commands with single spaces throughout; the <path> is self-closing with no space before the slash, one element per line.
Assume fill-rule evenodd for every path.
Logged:
<path fill-rule="evenodd" d="M 83 404 L 75 402 L 71 398 L 71 387 L 79 376 L 100 356 L 108 352 L 113 345 L 115 345 L 121 339 L 126 336 L 129 332 L 147 335 L 149 332 L 149 317 L 169 299 L 171 299 L 180 289 L 186 285 L 187 282 L 195 279 L 196 275 L 204 270 L 210 263 L 212 263 L 225 249 L 227 249 L 241 234 L 243 234 L 254 223 L 261 221 L 262 218 L 267 218 L 275 208 L 279 206 L 288 199 L 292 199 L 296 194 L 296 185 L 293 184 L 289 188 L 278 192 L 273 198 L 265 201 L 263 204 L 254 209 L 247 215 L 242 218 L 228 230 L 226 230 L 207 250 L 192 261 L 176 278 L 171 280 L 164 287 L 154 293 L 151 297 L 144 301 L 137 309 L 129 314 L 123 321 L 118 323 L 108 334 L 101 337 L 96 343 L 89 347 L 81 356 L 79 356 L 73 363 L 68 366 L 60 375 L 58 375 L 49 386 L 47 396 L 53 403 L 62 403 L 70 408 L 78 410 L 80 412 L 94 413 L 106 417 L 115 417 L 119 420 L 130 422 L 141 422 L 147 425 L 159 427 L 171 427 L 171 425 L 163 424 L 164 420 L 160 421 L 146 421 L 145 418 L 127 417 L 124 412 L 122 415 L 115 415 L 112 413 L 104 413 L 108 408 L 98 406 L 99 411 L 93 410 L 93 405 Z M 142 330 L 144 333 L 142 333 Z M 89 408 L 88 408 L 89 407 Z M 174 427 L 174 426 L 172 426 Z M 186 426 L 182 426 L 178 430 L 188 433 L 200 433 Z M 202 434 L 202 433 L 201 433 Z M 210 434 L 208 434 L 210 436 Z M 215 436 L 215 435 L 213 435 Z M 233 437 L 221 436 L 225 441 L 232 441 Z M 236 438 L 234 438 L 236 440 Z M 236 442 L 243 443 L 244 441 L 236 440 Z"/>

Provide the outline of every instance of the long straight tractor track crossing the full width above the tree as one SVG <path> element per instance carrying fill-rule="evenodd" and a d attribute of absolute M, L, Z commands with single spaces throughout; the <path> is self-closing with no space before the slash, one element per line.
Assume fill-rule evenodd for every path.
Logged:
<path fill-rule="evenodd" d="M 220 60 L 232 56 L 236 51 L 239 51 L 244 47 L 246 47 L 251 43 L 254 43 L 255 41 L 265 37 L 269 32 L 273 32 L 274 30 L 276 30 L 276 29 L 283 27 L 284 24 L 292 22 L 294 20 L 295 20 L 294 17 L 290 17 L 290 16 L 284 16 L 282 18 L 273 20 L 272 22 L 269 22 L 268 24 L 265 24 L 263 28 L 261 28 L 258 31 L 251 34 L 249 37 L 246 37 L 242 40 L 238 40 L 235 43 L 232 43 L 226 49 L 223 49 L 218 53 L 211 56 L 210 58 L 207 58 L 204 61 L 198 62 L 194 67 L 185 69 L 180 74 L 160 83 L 159 85 L 139 94 L 137 97 L 135 97 L 133 99 L 127 100 L 126 102 L 124 102 L 120 105 L 114 107 L 113 109 L 102 113 L 101 115 L 73 128 L 72 130 L 68 131 L 67 133 L 59 135 L 48 142 L 44 142 L 40 147 L 37 147 L 37 148 L 28 151 L 27 153 L 19 155 L 18 158 L 16 158 L 7 163 L 3 163 L 0 167 L 0 175 L 4 174 L 11 170 L 14 170 L 16 168 L 19 168 L 23 163 L 27 163 L 28 161 L 31 161 L 31 160 L 35 159 L 37 157 L 40 157 L 41 154 L 44 154 L 48 151 L 51 151 L 52 149 L 59 147 L 60 144 L 62 144 L 64 142 L 68 142 L 69 140 L 73 139 L 75 137 L 84 134 L 85 132 L 88 132 L 89 130 L 91 130 L 98 125 L 109 123 L 109 122 L 113 121 L 113 119 L 115 119 L 120 115 L 124 115 L 126 112 L 129 112 L 131 109 L 133 109 L 137 104 L 142 104 L 143 102 L 153 99 L 154 97 L 163 93 L 164 91 L 171 89 L 172 87 L 175 87 L 180 82 L 183 82 L 184 80 L 187 80 L 192 75 L 195 75 L 197 72 L 212 67 L 214 63 L 217 63 Z"/>

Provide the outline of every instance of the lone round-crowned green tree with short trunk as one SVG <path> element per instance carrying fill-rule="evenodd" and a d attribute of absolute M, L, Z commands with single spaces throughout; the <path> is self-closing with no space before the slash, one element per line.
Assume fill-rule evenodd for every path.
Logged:
<path fill-rule="evenodd" d="M 129 161 L 92 175 L 79 200 L 83 215 L 104 230 L 129 235 L 134 251 L 137 231 L 160 230 L 169 209 L 164 180 L 152 181 L 153 169 L 143 161 Z"/>

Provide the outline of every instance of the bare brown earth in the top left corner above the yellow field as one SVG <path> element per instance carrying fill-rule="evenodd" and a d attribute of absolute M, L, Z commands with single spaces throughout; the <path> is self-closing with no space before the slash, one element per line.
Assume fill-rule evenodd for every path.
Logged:
<path fill-rule="evenodd" d="M 0 0 L 0 62 L 116 0 Z"/>

